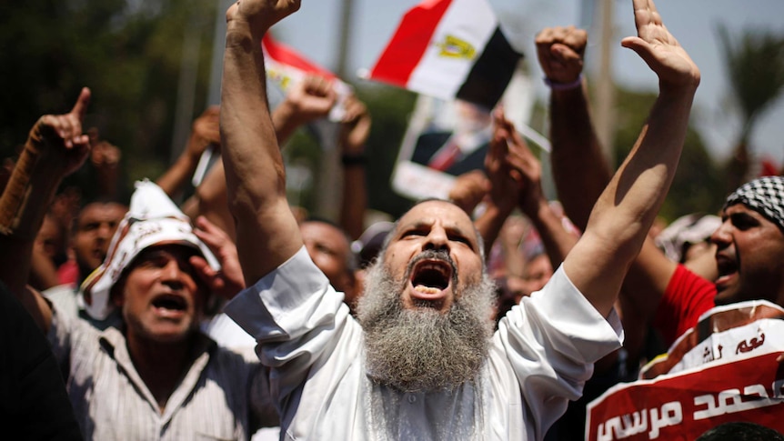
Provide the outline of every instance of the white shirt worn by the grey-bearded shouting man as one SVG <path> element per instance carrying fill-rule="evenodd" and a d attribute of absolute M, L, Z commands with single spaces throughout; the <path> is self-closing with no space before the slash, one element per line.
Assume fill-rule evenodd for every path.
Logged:
<path fill-rule="evenodd" d="M 363 331 L 305 247 L 225 311 L 256 337 L 285 439 L 541 439 L 623 339 L 559 268 L 501 321 L 477 381 L 404 394 L 367 377 Z"/>

